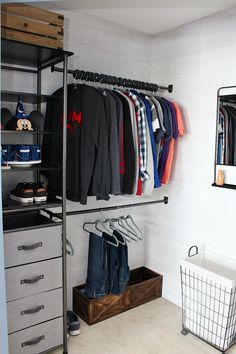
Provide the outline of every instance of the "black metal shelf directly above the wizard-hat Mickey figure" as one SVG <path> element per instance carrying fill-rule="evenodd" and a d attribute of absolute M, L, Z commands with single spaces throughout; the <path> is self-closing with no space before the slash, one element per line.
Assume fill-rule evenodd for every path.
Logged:
<path fill-rule="evenodd" d="M 48 99 L 61 100 L 61 96 L 53 95 L 43 95 L 30 92 L 20 92 L 20 91 L 1 91 L 1 101 L 2 102 L 17 102 L 18 97 L 21 96 L 24 103 L 37 104 L 39 102 L 47 102 Z"/>

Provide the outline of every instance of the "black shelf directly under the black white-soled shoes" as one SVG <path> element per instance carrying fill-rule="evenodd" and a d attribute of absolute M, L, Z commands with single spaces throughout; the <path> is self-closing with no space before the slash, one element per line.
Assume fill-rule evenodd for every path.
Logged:
<path fill-rule="evenodd" d="M 50 208 L 57 208 L 61 207 L 62 201 L 58 198 L 51 198 L 48 199 L 47 202 L 41 204 L 20 204 L 13 200 L 9 200 L 7 205 L 3 205 L 3 215 L 10 214 L 10 213 L 17 213 L 22 211 L 29 211 L 29 210 L 42 210 L 42 209 L 50 209 Z"/>

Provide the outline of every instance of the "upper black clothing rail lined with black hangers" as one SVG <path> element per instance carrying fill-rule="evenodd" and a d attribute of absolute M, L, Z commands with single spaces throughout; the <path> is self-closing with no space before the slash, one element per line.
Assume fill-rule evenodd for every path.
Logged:
<path fill-rule="evenodd" d="M 55 65 L 51 66 L 51 71 L 63 72 L 61 68 L 57 68 L 55 67 Z M 146 91 L 153 91 L 153 92 L 158 90 L 167 90 L 170 93 L 173 91 L 173 85 L 160 86 L 149 82 L 124 79 L 122 77 L 98 74 L 91 71 L 68 70 L 68 74 L 73 75 L 73 77 L 77 80 L 80 79 L 89 82 L 97 82 L 101 84 L 127 87 L 127 88 L 138 89 L 138 90 L 146 90 Z"/>

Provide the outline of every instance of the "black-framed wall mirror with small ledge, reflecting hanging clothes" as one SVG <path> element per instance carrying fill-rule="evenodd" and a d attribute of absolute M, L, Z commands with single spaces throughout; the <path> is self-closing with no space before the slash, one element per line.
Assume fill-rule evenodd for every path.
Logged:
<path fill-rule="evenodd" d="M 214 186 L 236 189 L 236 86 L 217 97 Z"/>

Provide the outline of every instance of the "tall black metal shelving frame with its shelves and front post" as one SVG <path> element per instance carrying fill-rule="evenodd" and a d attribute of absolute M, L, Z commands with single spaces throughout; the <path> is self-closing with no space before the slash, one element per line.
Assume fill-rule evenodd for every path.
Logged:
<path fill-rule="evenodd" d="M 22 96 L 25 103 L 36 103 L 37 110 L 41 111 L 41 102 L 46 102 L 48 98 L 52 99 L 52 96 L 42 95 L 42 70 L 49 68 L 52 65 L 61 63 L 63 66 L 63 99 L 57 101 L 62 103 L 63 106 L 63 126 L 61 127 L 61 144 L 63 145 L 62 153 L 62 197 L 51 198 L 48 196 L 48 200 L 41 204 L 28 204 L 22 205 L 13 201 L 6 201 L 6 205 L 3 205 L 3 214 L 15 215 L 20 212 L 26 211 L 50 211 L 50 208 L 59 208 L 62 211 L 62 290 L 63 290 L 63 352 L 67 353 L 67 270 L 66 270 L 66 255 L 67 255 L 67 242 L 66 242 L 66 116 L 67 116 L 67 73 L 68 73 L 68 57 L 73 55 L 72 52 L 67 52 L 61 49 L 46 48 L 38 45 L 26 44 L 13 40 L 2 38 L 1 41 L 1 69 L 9 71 L 19 71 L 22 73 L 34 74 L 36 78 L 36 94 L 26 92 L 3 92 L 3 100 L 16 102 L 18 95 Z M 27 79 L 27 78 L 26 78 Z M 59 97 L 56 97 L 57 99 Z M 34 132 L 33 134 L 47 134 L 48 132 Z M 3 133 L 13 134 L 13 132 Z M 22 132 L 21 134 L 27 134 Z M 32 134 L 32 133 L 31 133 Z M 54 132 L 50 132 L 54 134 Z M 16 136 L 16 135 L 15 135 Z M 14 136 L 14 138 L 15 138 Z M 34 166 L 31 168 L 19 168 L 12 169 L 11 171 L 17 171 L 22 173 L 23 171 L 36 171 L 37 181 L 40 181 L 40 171 L 42 170 L 55 170 L 55 167 L 42 167 Z M 6 170 L 5 170 L 6 171 Z M 4 173 L 10 177 L 9 174 Z M 17 177 L 17 176 L 16 176 Z M 36 177 L 36 176 L 35 176 Z M 36 179 L 36 178 L 35 178 Z M 7 191 L 6 191 L 7 192 Z M 51 349 L 50 349 L 51 350 Z"/>

